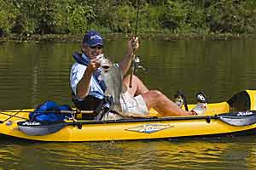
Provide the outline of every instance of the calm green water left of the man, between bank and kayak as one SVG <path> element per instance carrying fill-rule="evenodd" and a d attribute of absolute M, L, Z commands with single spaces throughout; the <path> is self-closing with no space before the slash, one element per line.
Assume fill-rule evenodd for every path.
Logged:
<path fill-rule="evenodd" d="M 1 109 L 35 107 L 47 99 L 70 102 L 69 67 L 76 44 L 71 50 L 67 44 L 51 43 L 4 46 L 8 50 L 0 50 Z"/>

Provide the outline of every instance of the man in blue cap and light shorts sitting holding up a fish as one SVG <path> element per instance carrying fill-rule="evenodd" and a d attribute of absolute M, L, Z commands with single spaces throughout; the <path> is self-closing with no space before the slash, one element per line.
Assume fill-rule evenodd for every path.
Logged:
<path fill-rule="evenodd" d="M 137 37 L 132 37 L 127 43 L 124 58 L 119 62 L 123 75 L 129 70 L 132 54 L 138 47 Z M 88 31 L 83 38 L 82 54 L 73 55 L 77 62 L 73 64 L 71 69 L 70 84 L 73 90 L 73 102 L 80 110 L 95 110 L 104 98 L 106 87 L 99 78 L 101 60 L 97 59 L 97 56 L 102 54 L 102 48 L 101 35 L 96 31 Z M 136 76 L 132 77 L 131 88 L 129 82 L 130 76 L 126 76 L 123 83 L 127 91 L 120 101 L 123 111 L 137 112 L 145 116 L 150 108 L 154 108 L 162 116 L 196 115 L 195 111 L 183 111 L 160 91 L 148 90 Z"/>

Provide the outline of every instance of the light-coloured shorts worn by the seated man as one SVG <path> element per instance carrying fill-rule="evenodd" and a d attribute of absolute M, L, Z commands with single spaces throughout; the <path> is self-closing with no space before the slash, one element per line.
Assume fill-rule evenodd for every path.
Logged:
<path fill-rule="evenodd" d="M 131 97 L 131 95 L 126 91 L 125 94 L 121 94 L 120 103 L 123 112 L 137 113 L 142 116 L 148 115 L 148 107 L 142 95 Z"/>

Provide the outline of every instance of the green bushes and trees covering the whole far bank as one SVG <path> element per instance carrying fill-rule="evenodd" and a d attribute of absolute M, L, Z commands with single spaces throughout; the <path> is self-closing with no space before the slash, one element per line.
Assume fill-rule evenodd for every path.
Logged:
<path fill-rule="evenodd" d="M 142 39 L 228 40 L 255 37 L 255 0 L 139 0 Z M 0 0 L 0 42 L 81 42 L 96 30 L 131 37 L 137 0 Z"/>

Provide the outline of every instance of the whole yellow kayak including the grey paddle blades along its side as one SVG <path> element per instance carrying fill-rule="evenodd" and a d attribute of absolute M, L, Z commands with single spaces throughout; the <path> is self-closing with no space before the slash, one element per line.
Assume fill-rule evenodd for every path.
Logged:
<path fill-rule="evenodd" d="M 194 106 L 189 105 L 189 110 Z M 1 111 L 0 134 L 38 141 L 79 142 L 254 133 L 255 107 L 256 90 L 246 90 L 228 101 L 208 104 L 204 116 L 160 117 L 151 110 L 150 116 L 136 119 L 38 123 L 27 121 L 34 109 Z"/>

